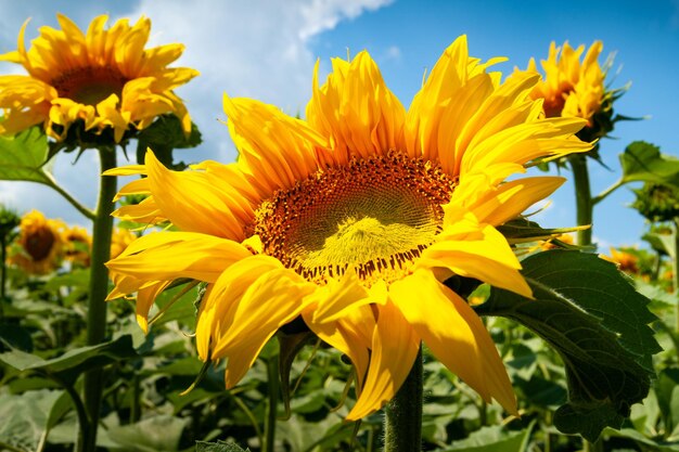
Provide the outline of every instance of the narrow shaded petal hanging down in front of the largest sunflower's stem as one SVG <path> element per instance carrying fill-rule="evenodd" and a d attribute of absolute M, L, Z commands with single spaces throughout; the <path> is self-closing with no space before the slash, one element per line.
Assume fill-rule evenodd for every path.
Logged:
<path fill-rule="evenodd" d="M 387 301 L 377 309 L 368 376 L 347 421 L 360 419 L 388 402 L 406 380 L 420 349 L 420 337 L 396 306 Z"/>

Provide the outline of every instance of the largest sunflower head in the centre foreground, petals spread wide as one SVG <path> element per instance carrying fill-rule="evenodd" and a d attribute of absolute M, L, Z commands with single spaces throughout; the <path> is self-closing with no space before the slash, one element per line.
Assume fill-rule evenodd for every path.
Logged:
<path fill-rule="evenodd" d="M 227 360 L 234 386 L 265 343 L 302 317 L 357 371 L 348 414 L 379 410 L 398 390 L 421 341 L 485 400 L 516 412 L 495 345 L 472 308 L 443 281 L 475 277 L 531 296 L 496 225 L 562 182 L 505 182 L 539 157 L 585 152 L 580 118 L 543 118 L 528 96 L 537 74 L 500 83 L 460 37 L 406 111 L 367 52 L 333 60 L 306 120 L 225 95 L 236 163 L 166 169 L 152 152 L 115 215 L 170 221 L 181 231 L 134 241 L 107 263 L 115 298 L 138 292 L 142 324 L 171 281 L 208 283 L 200 307 L 201 359 Z"/>

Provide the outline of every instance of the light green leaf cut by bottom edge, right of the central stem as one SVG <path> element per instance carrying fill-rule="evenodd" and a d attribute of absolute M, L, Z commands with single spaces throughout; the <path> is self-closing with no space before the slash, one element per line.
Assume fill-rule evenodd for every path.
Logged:
<path fill-rule="evenodd" d="M 522 431 L 505 431 L 501 426 L 482 427 L 467 438 L 456 441 L 445 452 L 523 452 L 528 444 L 528 438 L 535 422 Z"/>

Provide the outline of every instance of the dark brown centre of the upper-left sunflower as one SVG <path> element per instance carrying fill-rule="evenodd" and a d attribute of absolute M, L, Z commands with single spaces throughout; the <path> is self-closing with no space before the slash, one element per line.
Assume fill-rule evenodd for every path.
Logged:
<path fill-rule="evenodd" d="M 80 104 L 97 105 L 111 94 L 121 98 L 128 79 L 119 70 L 103 67 L 78 67 L 53 79 L 51 85 L 60 98 L 72 99 Z"/>

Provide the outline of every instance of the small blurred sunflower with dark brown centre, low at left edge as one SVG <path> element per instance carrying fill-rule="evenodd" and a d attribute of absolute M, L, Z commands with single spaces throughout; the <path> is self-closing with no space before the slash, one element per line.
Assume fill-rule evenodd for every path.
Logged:
<path fill-rule="evenodd" d="M 46 219 L 31 210 L 22 217 L 18 237 L 10 247 L 8 262 L 29 274 L 46 274 L 56 270 L 63 259 L 66 225 L 60 220 Z"/>

